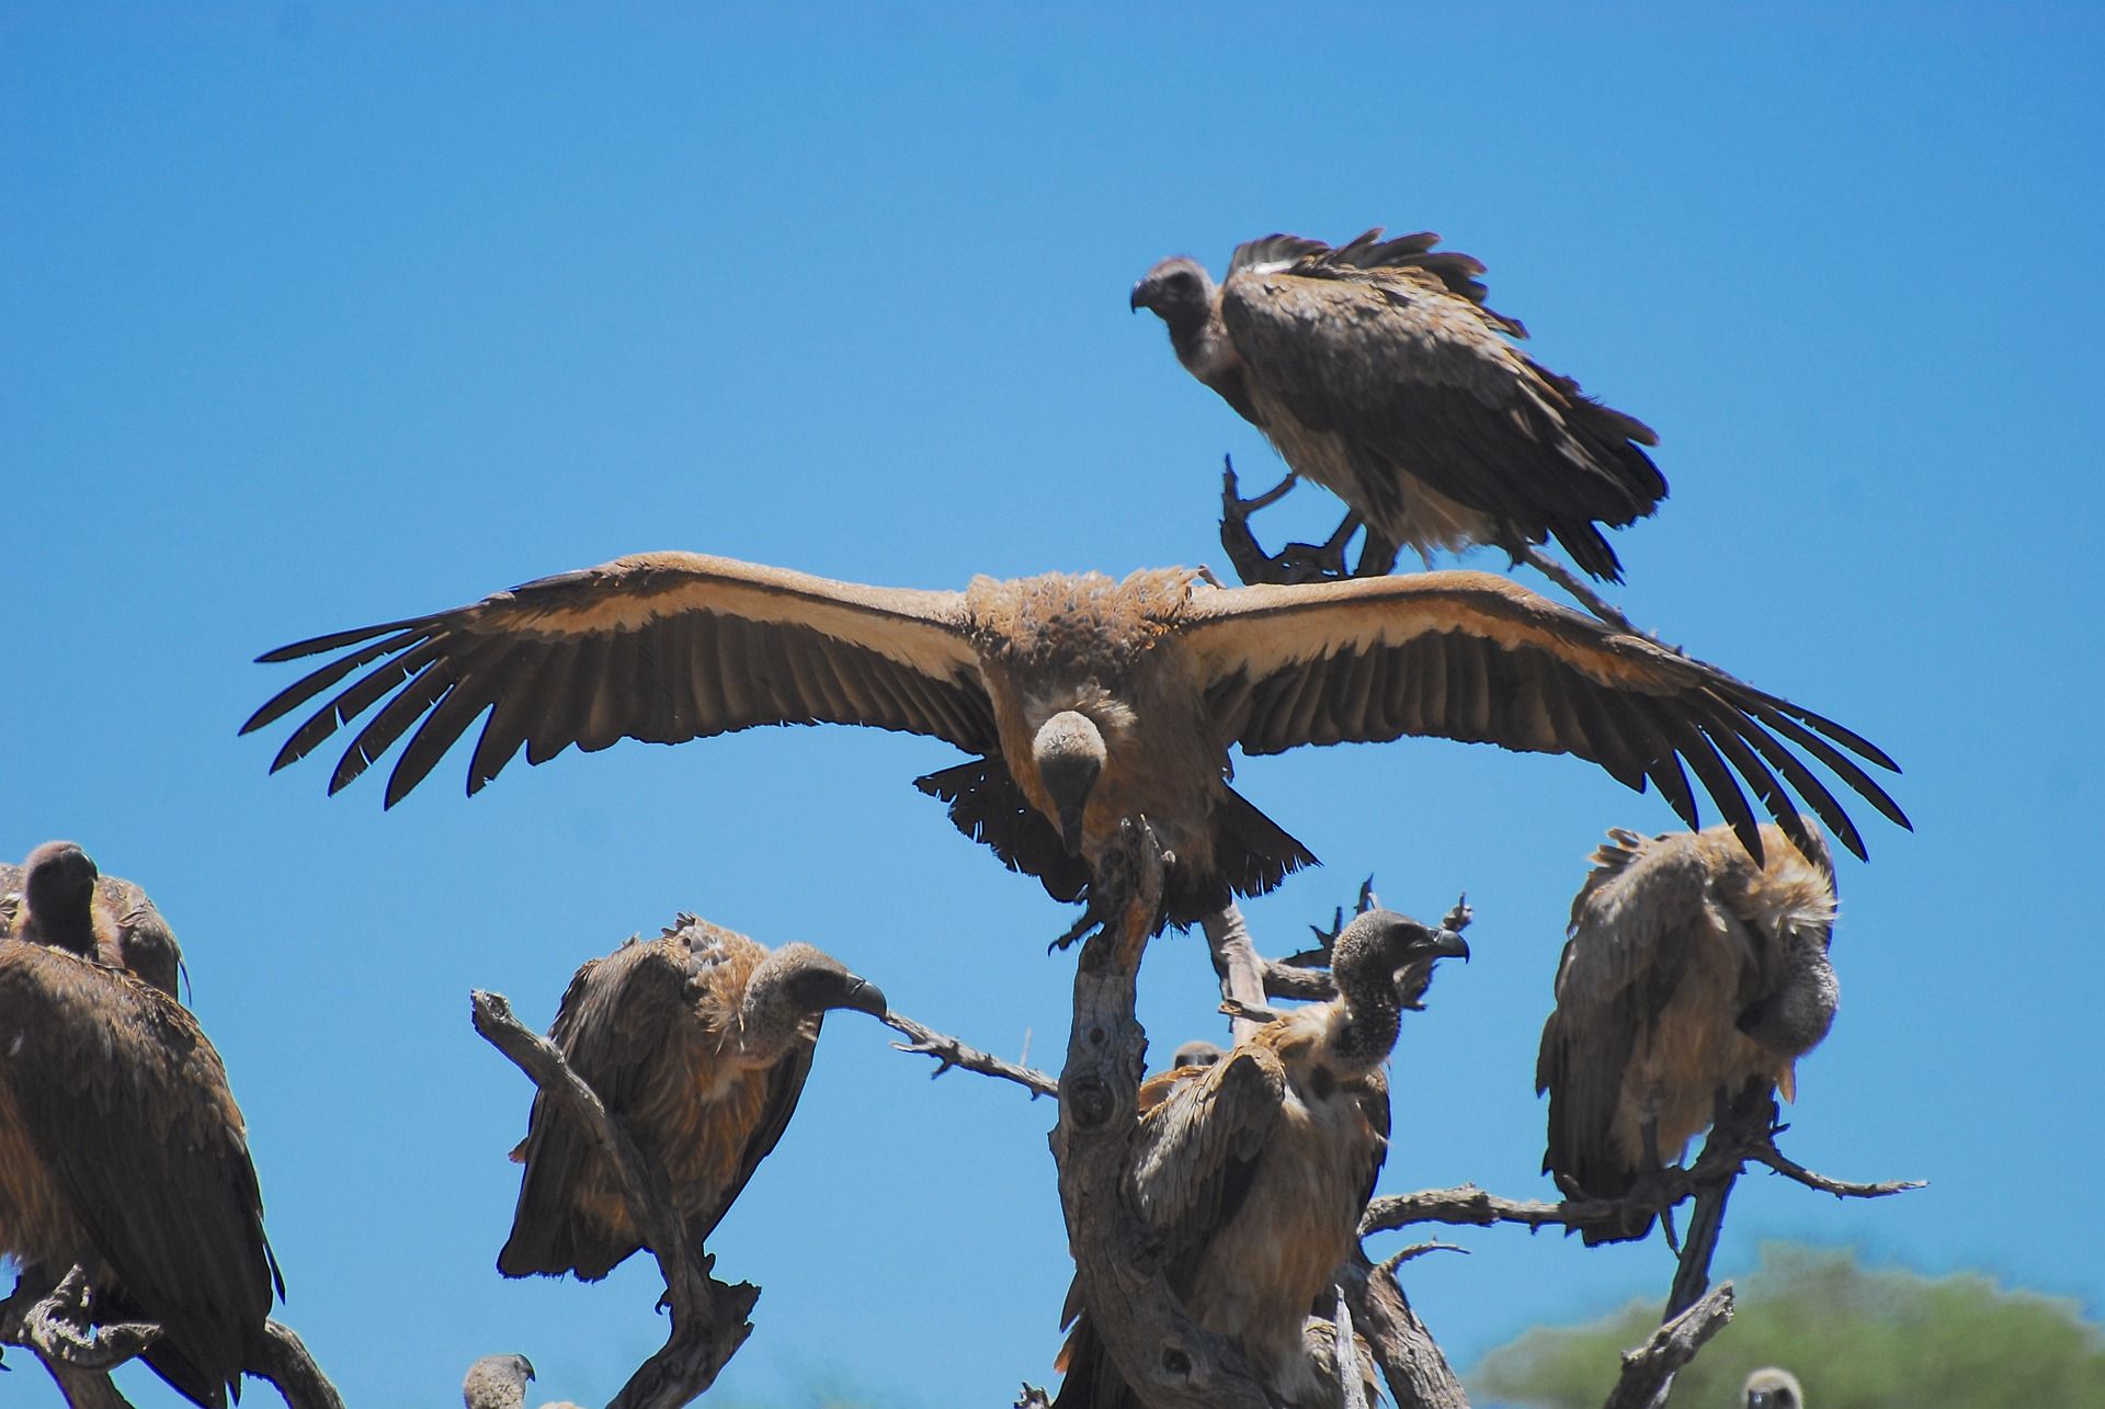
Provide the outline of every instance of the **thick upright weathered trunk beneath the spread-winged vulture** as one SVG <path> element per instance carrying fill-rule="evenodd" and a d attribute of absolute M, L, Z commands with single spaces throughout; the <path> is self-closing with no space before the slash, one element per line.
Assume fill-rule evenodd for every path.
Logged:
<path fill-rule="evenodd" d="M 1162 1270 L 1145 1264 L 1149 1238 L 1126 1198 L 1147 1053 L 1132 979 L 1162 908 L 1162 849 L 1145 823 L 1124 823 L 1097 889 L 1116 904 L 1076 965 L 1050 1137 L 1082 1304 L 1118 1373 L 1151 1409 L 1269 1409 L 1242 1352 L 1194 1325 Z"/>

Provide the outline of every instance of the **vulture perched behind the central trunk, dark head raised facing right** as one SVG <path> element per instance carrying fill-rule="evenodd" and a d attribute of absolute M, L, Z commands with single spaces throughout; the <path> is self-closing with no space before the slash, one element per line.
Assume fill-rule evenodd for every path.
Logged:
<path fill-rule="evenodd" d="M 1332 950 L 1335 1000 L 1265 1024 L 1212 1066 L 1141 1085 L 1130 1196 L 1160 1238 L 1168 1287 L 1288 1405 L 1337 1403 L 1320 1398 L 1337 1371 L 1309 1356 L 1307 1316 L 1351 1249 L 1387 1154 L 1381 1066 L 1400 1011 L 1417 1007 L 1442 956 L 1467 958 L 1469 946 L 1368 910 Z M 1139 1409 L 1082 1314 L 1080 1287 L 1067 1321 L 1055 1405 Z"/>

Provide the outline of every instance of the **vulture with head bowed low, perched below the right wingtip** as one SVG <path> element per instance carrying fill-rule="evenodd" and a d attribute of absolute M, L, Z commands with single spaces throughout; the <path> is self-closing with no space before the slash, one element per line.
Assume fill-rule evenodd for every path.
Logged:
<path fill-rule="evenodd" d="M 1617 828 L 1593 853 L 1535 1068 L 1549 1093 L 1543 1171 L 1566 1192 L 1629 1194 L 1682 1156 L 1720 1093 L 1758 1080 L 1796 1097 L 1793 1064 L 1827 1036 L 1840 992 L 1833 864 L 1808 834 L 1812 847 L 1770 845 L 1762 861 L 1726 828 L 1650 840 Z M 1650 1226 L 1633 1213 L 1585 1241 Z"/>

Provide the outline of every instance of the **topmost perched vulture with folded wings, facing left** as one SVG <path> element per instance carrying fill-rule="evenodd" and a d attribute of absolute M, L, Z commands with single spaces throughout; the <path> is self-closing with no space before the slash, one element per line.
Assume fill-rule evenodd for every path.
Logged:
<path fill-rule="evenodd" d="M 1368 230 L 1330 249 L 1276 234 L 1238 246 L 1219 286 L 1196 259 L 1164 259 L 1132 307 L 1160 314 L 1185 371 L 1387 552 L 1497 543 L 1518 556 L 1556 537 L 1581 569 L 1621 581 L 1596 524 L 1665 499 L 1640 449 L 1659 438 L 1513 348 L 1528 333 L 1484 305 L 1484 265 L 1438 242 Z"/>

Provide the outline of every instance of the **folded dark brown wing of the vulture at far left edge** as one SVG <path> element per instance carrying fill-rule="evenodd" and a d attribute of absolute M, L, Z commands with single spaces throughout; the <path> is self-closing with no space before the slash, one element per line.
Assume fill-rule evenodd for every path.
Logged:
<path fill-rule="evenodd" d="M 219 1053 L 173 998 L 34 944 L 0 944 L 0 1099 L 101 1255 L 99 1285 L 166 1331 L 145 1361 L 225 1405 L 284 1283 Z"/>

